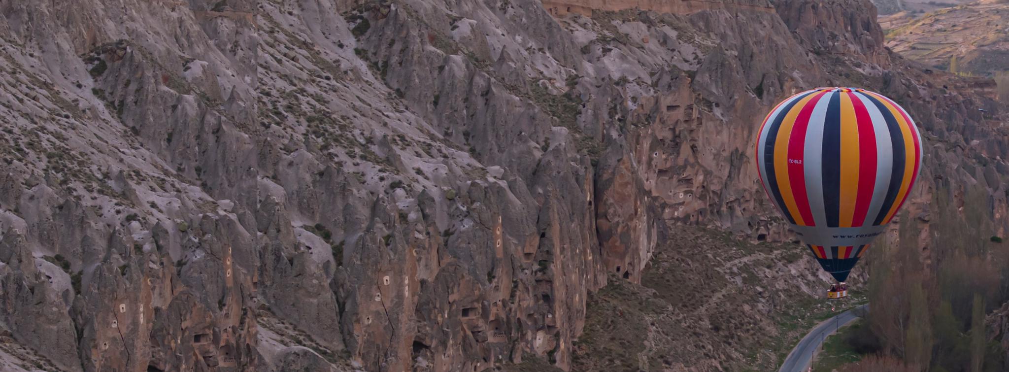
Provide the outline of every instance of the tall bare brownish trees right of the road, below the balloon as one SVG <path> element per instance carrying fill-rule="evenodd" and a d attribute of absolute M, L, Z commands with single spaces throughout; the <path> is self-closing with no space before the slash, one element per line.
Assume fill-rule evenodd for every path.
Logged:
<path fill-rule="evenodd" d="M 935 238 L 929 254 L 939 263 L 934 272 L 920 268 L 917 224 L 902 223 L 897 241 L 883 237 L 870 251 L 870 329 L 883 357 L 932 370 L 998 370 L 1004 351 L 986 341 L 984 319 L 987 303 L 1003 303 L 1009 295 L 1000 268 L 1009 252 L 991 235 L 988 191 L 965 185 L 958 201 L 947 188 L 938 188 L 931 203 L 943 221 L 930 226 Z M 910 219 L 905 213 L 901 220 Z"/>

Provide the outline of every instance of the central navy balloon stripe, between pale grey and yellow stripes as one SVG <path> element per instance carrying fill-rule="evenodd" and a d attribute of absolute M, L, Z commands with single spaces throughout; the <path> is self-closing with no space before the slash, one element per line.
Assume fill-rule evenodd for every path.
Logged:
<path fill-rule="evenodd" d="M 840 215 L 840 94 L 830 96 L 823 122 L 823 213 L 826 225 L 837 227 Z"/>

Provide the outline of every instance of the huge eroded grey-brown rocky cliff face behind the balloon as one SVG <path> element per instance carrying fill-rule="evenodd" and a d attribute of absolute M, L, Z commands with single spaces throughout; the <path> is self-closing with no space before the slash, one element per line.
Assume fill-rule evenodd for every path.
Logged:
<path fill-rule="evenodd" d="M 925 130 L 912 216 L 981 188 L 1003 231 L 1000 108 L 819 3 L 0 0 L 0 360 L 568 370 L 667 229 L 794 239 L 751 143 L 815 86 Z"/>

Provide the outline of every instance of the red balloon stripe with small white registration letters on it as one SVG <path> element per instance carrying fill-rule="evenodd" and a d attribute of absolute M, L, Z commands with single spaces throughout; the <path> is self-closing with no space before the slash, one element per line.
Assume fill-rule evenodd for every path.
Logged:
<path fill-rule="evenodd" d="M 795 118 L 792 126 L 792 133 L 788 139 L 788 182 L 792 185 L 792 199 L 799 209 L 802 222 L 805 226 L 816 226 L 813 221 L 813 212 L 809 209 L 809 196 L 806 195 L 805 166 L 802 162 L 793 163 L 792 159 L 802 160 L 805 158 L 806 129 L 809 128 L 809 116 L 813 113 L 813 108 L 826 92 L 817 93 L 815 97 L 806 102 L 799 111 L 799 116 Z"/>

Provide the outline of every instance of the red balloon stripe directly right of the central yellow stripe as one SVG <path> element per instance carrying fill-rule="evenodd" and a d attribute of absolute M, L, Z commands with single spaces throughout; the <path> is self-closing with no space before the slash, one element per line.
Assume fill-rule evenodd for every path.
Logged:
<path fill-rule="evenodd" d="M 866 222 L 866 215 L 869 214 L 869 205 L 873 201 L 873 189 L 876 187 L 876 129 L 873 128 L 873 119 L 869 117 L 869 110 L 862 103 L 859 97 L 852 93 L 845 93 L 852 100 L 855 108 L 855 119 L 859 125 L 859 193 L 855 198 L 855 216 L 852 218 L 853 227 L 861 227 Z"/>

